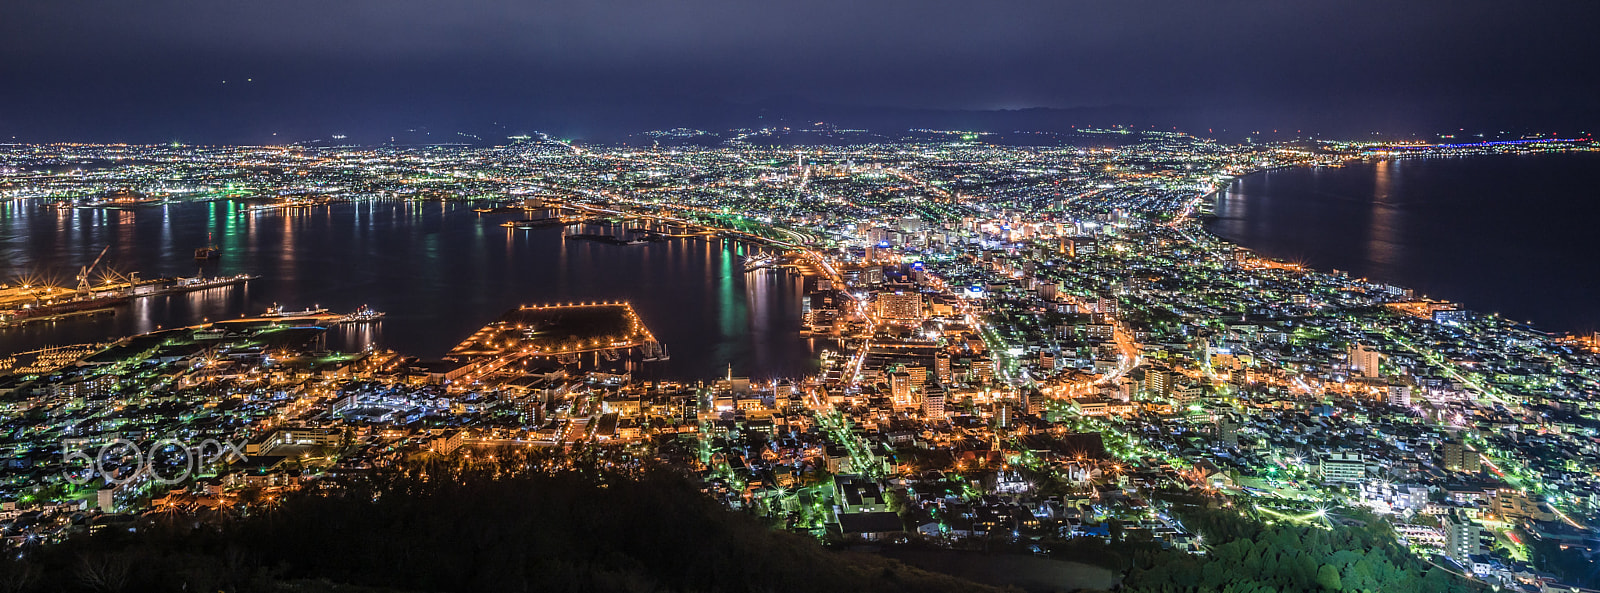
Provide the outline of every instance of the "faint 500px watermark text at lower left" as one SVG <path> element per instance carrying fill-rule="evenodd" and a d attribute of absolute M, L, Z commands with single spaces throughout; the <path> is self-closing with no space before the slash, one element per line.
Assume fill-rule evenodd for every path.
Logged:
<path fill-rule="evenodd" d="M 94 476 L 104 478 L 106 484 L 110 486 L 122 486 L 141 476 L 173 486 L 189 480 L 195 470 L 206 465 L 245 460 L 242 443 L 208 438 L 198 444 L 189 444 L 176 438 L 163 438 L 142 449 L 126 438 L 112 440 L 101 444 L 99 449 L 62 443 L 61 464 L 66 465 L 62 475 L 74 486 L 88 484 Z"/>

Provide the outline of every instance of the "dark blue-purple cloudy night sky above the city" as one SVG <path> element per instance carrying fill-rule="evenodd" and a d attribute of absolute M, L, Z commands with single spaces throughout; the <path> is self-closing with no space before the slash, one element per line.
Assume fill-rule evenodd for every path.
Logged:
<path fill-rule="evenodd" d="M 1061 112 L 1016 121 L 1581 133 L 1600 126 L 1597 22 L 1590 0 L 5 0 L 0 141 L 600 139 L 1032 107 Z"/>

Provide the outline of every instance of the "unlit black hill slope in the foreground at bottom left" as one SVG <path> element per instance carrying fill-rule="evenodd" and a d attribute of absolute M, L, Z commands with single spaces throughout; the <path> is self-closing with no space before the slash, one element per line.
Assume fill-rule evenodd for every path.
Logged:
<path fill-rule="evenodd" d="M 502 470 L 502 468 L 501 468 Z M 414 467 L 245 518 L 106 529 L 0 566 L 6 591 L 984 591 L 829 551 L 666 472 Z"/>

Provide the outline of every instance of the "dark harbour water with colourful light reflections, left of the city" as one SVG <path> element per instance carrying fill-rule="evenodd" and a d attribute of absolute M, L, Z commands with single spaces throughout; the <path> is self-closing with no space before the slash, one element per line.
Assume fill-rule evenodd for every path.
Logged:
<path fill-rule="evenodd" d="M 744 273 L 752 246 L 725 240 L 669 240 L 613 246 L 566 240 L 560 227 L 512 230 L 520 214 L 478 214 L 466 205 L 368 200 L 296 209 L 251 209 L 240 201 L 147 206 L 128 211 L 54 209 L 38 201 L 0 209 L 0 281 L 48 275 L 70 285 L 75 270 L 110 245 L 104 267 L 142 278 L 261 275 L 243 286 L 136 299 L 115 315 L 0 329 L 0 353 L 106 340 L 258 315 L 274 304 L 350 312 L 371 305 L 382 323 L 330 331 L 328 345 L 370 342 L 437 358 L 502 312 L 538 302 L 630 300 L 672 360 L 645 372 L 710 379 L 731 363 L 754 377 L 798 377 L 814 369 L 814 347 L 798 336 L 802 280 Z M 221 257 L 197 262 L 210 240 Z"/>

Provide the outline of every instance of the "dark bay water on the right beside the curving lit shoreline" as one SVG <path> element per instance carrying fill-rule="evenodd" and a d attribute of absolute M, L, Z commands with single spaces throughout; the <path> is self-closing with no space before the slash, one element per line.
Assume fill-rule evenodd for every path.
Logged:
<path fill-rule="evenodd" d="M 1238 179 L 1211 232 L 1555 331 L 1600 329 L 1600 153 L 1410 158 Z"/>

